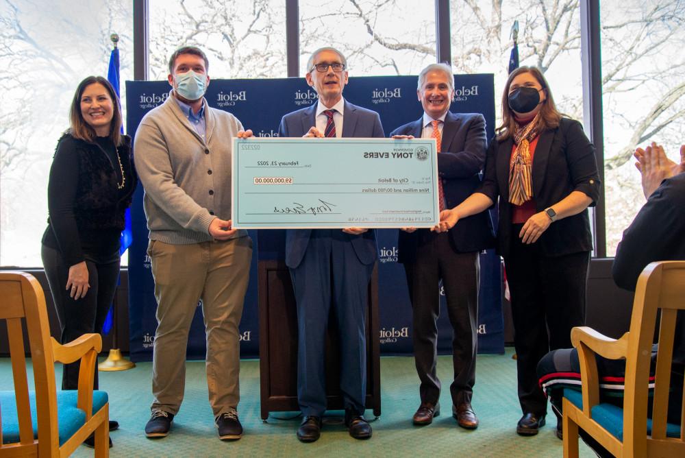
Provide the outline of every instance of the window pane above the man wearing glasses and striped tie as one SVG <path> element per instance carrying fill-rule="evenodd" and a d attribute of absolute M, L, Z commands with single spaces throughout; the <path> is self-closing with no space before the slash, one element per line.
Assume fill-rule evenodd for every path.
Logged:
<path fill-rule="evenodd" d="M 327 46 L 345 54 L 353 76 L 417 75 L 435 62 L 432 1 L 300 0 L 299 12 L 301 75 L 310 54 Z"/>

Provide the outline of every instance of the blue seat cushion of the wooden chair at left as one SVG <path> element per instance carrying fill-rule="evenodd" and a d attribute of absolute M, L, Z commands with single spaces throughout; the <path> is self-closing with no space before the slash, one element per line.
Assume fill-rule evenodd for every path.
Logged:
<path fill-rule="evenodd" d="M 60 431 L 60 445 L 73 436 L 86 423 L 86 413 L 76 407 L 78 391 L 75 389 L 57 391 L 57 418 Z M 105 391 L 92 392 L 92 413 L 102 409 L 108 402 Z M 34 427 L 34 439 L 38 437 L 38 418 L 36 416 L 36 393 L 29 391 L 31 422 Z M 3 444 L 19 442 L 19 420 L 16 413 L 14 391 L 0 391 L 0 409 L 2 414 Z"/>

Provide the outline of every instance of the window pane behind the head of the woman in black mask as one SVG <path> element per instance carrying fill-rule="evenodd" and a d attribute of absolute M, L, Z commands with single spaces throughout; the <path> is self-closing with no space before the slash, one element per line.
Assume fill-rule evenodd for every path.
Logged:
<path fill-rule="evenodd" d="M 494 73 L 495 112 L 501 121 L 501 95 L 508 77 L 519 21 L 519 63 L 545 74 L 557 108 L 583 119 L 578 1 L 519 0 L 482 2 L 451 0 L 451 50 L 455 73 Z"/>

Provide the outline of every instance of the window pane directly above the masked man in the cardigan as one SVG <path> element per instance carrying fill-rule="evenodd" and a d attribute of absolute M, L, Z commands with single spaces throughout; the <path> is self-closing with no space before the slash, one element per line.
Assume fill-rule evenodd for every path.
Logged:
<path fill-rule="evenodd" d="M 169 56 L 197 46 L 214 78 L 285 77 L 283 0 L 150 0 L 150 79 L 166 80 Z"/>

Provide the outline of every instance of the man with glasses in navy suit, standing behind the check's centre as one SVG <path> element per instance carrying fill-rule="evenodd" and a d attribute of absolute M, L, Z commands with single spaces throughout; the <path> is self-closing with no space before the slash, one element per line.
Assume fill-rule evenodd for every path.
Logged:
<path fill-rule="evenodd" d="M 330 47 L 317 49 L 309 58 L 307 69 L 307 84 L 319 95 L 319 101 L 285 115 L 278 136 L 384 136 L 377 112 L 343 99 L 347 60 L 340 51 Z M 366 291 L 377 257 L 373 230 L 286 231 L 286 265 L 297 300 L 297 400 L 303 415 L 297 437 L 302 442 L 314 442 L 321 433 L 321 416 L 326 410 L 325 335 L 331 312 L 340 339 L 345 425 L 356 439 L 371 437 L 371 425 L 364 419 L 364 329 Z"/>

